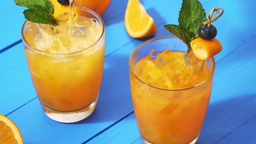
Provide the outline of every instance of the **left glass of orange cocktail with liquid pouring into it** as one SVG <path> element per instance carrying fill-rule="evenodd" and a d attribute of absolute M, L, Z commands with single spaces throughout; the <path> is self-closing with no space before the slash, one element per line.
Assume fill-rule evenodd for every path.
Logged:
<path fill-rule="evenodd" d="M 102 81 L 105 26 L 82 8 L 77 20 L 59 26 L 26 21 L 22 39 L 27 65 L 46 115 L 59 122 L 80 121 L 95 109 Z"/>

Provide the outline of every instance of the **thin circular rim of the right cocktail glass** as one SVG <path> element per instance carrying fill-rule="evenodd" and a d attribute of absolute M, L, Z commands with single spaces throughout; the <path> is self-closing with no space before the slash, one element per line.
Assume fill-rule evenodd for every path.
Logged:
<path fill-rule="evenodd" d="M 177 36 L 158 36 L 158 37 L 155 37 L 155 38 L 152 38 L 152 39 L 148 39 L 147 41 L 144 41 L 143 43 L 139 44 L 132 52 L 131 52 L 131 55 L 130 55 L 130 58 L 129 58 L 129 70 L 131 71 L 132 75 L 135 76 L 135 79 L 138 79 L 140 82 L 142 82 L 144 85 L 148 85 L 149 87 L 151 88 L 156 88 L 158 90 L 164 90 L 164 91 L 171 91 L 171 92 L 174 92 L 174 91 L 183 91 L 183 90 L 188 90 L 188 89 L 192 89 L 192 88 L 196 88 L 200 85 L 203 85 L 205 82 L 207 82 L 213 75 L 214 71 L 215 71 L 215 59 L 213 57 L 211 57 L 210 59 L 212 59 L 213 61 L 213 68 L 211 70 L 211 73 L 210 75 L 207 77 L 207 79 L 205 79 L 203 82 L 200 82 L 199 84 L 197 85 L 194 85 L 192 87 L 189 87 L 189 88 L 183 88 L 183 89 L 164 89 L 164 88 L 158 88 L 158 87 L 155 87 L 153 85 L 149 85 L 147 84 L 146 82 L 143 82 L 141 79 L 138 78 L 137 75 L 135 75 L 135 73 L 133 72 L 133 70 L 131 69 L 131 57 L 134 55 L 134 53 L 136 52 L 137 49 L 139 49 L 141 46 L 144 46 L 148 43 L 151 43 L 155 40 L 159 40 L 159 39 L 170 39 L 170 38 L 177 38 Z M 177 38 L 179 39 L 179 38 Z M 179 39 L 180 40 L 180 39 Z"/>

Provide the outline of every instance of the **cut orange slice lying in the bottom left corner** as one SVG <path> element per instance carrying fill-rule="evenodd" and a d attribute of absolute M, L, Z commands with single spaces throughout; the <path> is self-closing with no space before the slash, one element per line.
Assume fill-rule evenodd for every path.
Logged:
<path fill-rule="evenodd" d="M 23 138 L 17 126 L 0 114 L 0 144 L 23 144 Z"/>

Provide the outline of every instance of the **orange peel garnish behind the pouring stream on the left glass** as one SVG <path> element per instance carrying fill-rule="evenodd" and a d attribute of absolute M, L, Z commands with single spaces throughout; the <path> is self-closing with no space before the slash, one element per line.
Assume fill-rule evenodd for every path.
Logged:
<path fill-rule="evenodd" d="M 54 13 L 53 17 L 58 21 L 67 21 L 69 20 L 69 6 L 62 6 L 58 2 L 54 2 L 54 0 L 51 0 L 52 3 L 54 3 Z M 82 5 L 79 1 L 75 0 L 75 8 L 74 8 L 74 18 L 73 20 L 76 20 L 81 12 Z"/>

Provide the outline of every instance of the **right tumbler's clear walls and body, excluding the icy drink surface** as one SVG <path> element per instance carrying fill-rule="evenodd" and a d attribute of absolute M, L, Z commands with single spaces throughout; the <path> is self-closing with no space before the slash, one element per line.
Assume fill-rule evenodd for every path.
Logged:
<path fill-rule="evenodd" d="M 187 52 L 187 46 L 177 37 L 162 36 L 141 43 L 131 53 L 131 96 L 141 139 L 144 144 L 195 144 L 209 104 L 215 61 L 210 58 L 204 62 L 209 76 L 200 84 L 186 89 L 161 89 L 139 79 L 134 71 L 135 64 L 151 49 Z"/>

